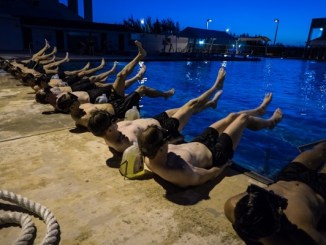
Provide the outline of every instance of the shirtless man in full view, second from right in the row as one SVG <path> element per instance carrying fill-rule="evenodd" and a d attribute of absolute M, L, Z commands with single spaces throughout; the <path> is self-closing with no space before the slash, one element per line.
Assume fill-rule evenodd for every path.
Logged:
<path fill-rule="evenodd" d="M 269 119 L 257 117 L 265 113 L 271 96 L 267 94 L 256 109 L 231 113 L 213 123 L 190 143 L 168 144 L 170 132 L 157 125 L 149 126 L 137 137 L 144 163 L 153 173 L 180 187 L 200 185 L 222 176 L 244 129 L 273 128 L 282 119 L 279 108 Z"/>

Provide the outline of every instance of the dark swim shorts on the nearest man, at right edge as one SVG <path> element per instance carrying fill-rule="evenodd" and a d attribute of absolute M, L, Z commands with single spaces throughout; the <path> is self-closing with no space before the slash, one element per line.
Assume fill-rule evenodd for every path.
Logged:
<path fill-rule="evenodd" d="M 299 162 L 291 162 L 278 174 L 276 181 L 299 181 L 308 185 L 326 200 L 326 174 L 307 168 Z"/>

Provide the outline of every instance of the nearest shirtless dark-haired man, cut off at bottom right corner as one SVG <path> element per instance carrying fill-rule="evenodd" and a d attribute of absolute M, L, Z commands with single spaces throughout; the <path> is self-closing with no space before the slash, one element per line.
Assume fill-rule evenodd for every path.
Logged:
<path fill-rule="evenodd" d="M 251 185 L 231 197 L 224 210 L 248 244 L 326 244 L 320 229 L 326 214 L 326 142 L 295 157 L 275 183 Z"/>

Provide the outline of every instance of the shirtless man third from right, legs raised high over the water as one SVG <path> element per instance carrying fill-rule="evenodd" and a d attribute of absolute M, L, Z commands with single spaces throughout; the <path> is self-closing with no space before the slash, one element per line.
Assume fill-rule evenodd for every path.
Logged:
<path fill-rule="evenodd" d="M 104 138 L 106 144 L 116 153 L 123 153 L 133 142 L 137 141 L 137 134 L 149 125 L 156 125 L 168 129 L 173 134 L 170 142 L 183 141 L 180 134 L 191 116 L 208 107 L 216 107 L 225 79 L 225 69 L 221 68 L 213 86 L 195 99 L 189 100 L 180 108 L 167 110 L 153 118 L 141 118 L 133 121 L 116 122 L 116 117 L 108 112 L 98 111 L 89 120 L 89 130 L 98 137 Z M 216 93 L 216 91 L 218 91 Z M 213 94 L 215 96 L 209 100 Z"/>

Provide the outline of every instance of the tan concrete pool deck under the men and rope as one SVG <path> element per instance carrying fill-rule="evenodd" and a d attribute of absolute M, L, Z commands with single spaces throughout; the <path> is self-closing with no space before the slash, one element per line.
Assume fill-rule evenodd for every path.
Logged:
<path fill-rule="evenodd" d="M 102 139 L 74 130 L 70 115 L 42 114 L 53 108 L 19 84 L 0 70 L 0 189 L 52 211 L 60 244 L 244 244 L 224 216 L 224 202 L 261 182 L 231 169 L 220 182 L 189 189 L 158 177 L 124 179 Z M 0 199 L 0 215 L 8 211 L 23 210 Z M 40 244 L 46 226 L 26 213 Z M 0 225 L 0 244 L 20 232 Z"/>

